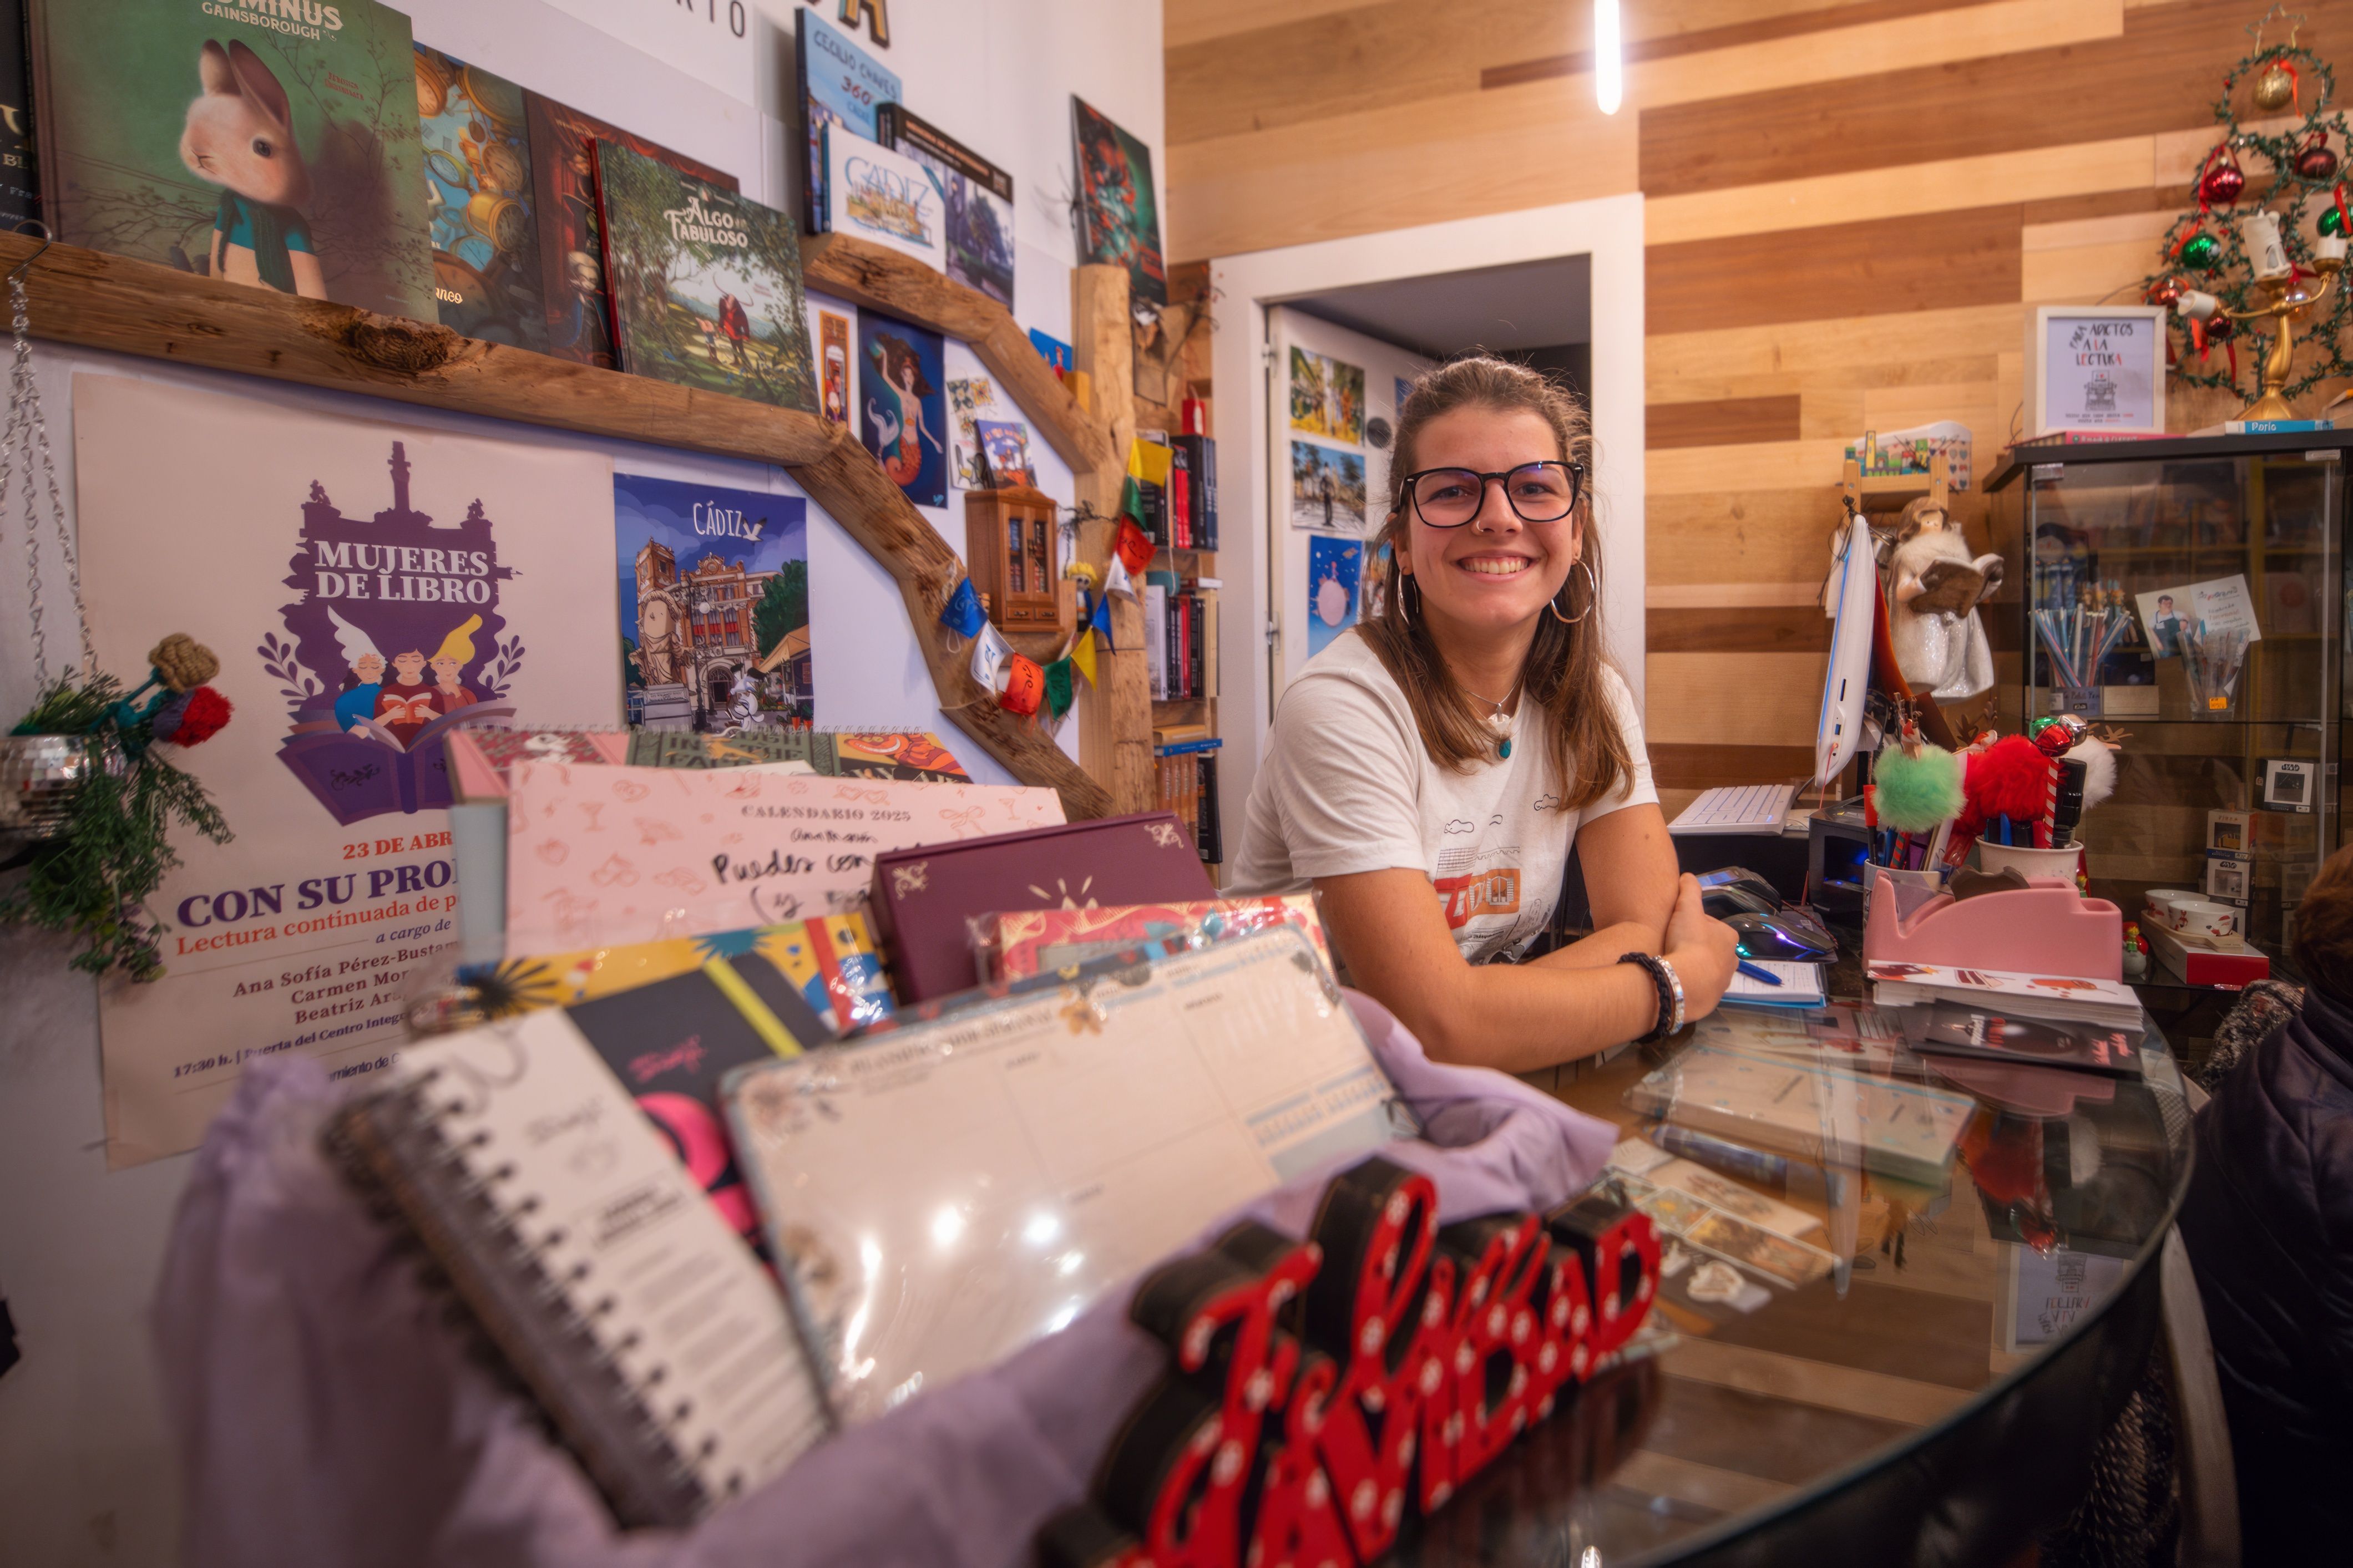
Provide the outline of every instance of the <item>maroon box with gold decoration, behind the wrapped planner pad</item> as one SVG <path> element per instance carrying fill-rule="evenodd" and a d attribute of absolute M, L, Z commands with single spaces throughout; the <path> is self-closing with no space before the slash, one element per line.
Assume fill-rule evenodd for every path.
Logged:
<path fill-rule="evenodd" d="M 871 917 L 892 990 L 929 1001 L 972 990 L 974 914 L 1217 898 L 1193 837 L 1169 811 L 1108 816 L 875 856 Z"/>

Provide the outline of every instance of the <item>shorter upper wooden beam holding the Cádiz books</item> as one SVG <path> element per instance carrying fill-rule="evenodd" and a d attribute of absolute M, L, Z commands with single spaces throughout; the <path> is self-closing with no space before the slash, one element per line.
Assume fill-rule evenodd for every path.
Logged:
<path fill-rule="evenodd" d="M 1071 473 L 1127 461 L 1127 449 L 1113 451 L 1104 421 L 1078 407 L 1012 313 L 979 289 L 856 235 L 802 240 L 800 270 L 812 289 L 969 343 Z"/>

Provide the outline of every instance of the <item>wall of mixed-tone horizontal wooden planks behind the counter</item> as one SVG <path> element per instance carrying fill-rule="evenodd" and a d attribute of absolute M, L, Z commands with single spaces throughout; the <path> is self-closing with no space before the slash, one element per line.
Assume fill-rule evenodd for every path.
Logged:
<path fill-rule="evenodd" d="M 2353 71 L 2353 0 L 2294 9 Z M 1165 0 L 1167 216 L 1191 261 L 1649 197 L 1647 726 L 1673 811 L 1807 769 L 1845 442 L 1958 418 L 1993 468 L 2024 306 L 2134 299 L 2264 5 L 1624 12 L 1605 118 L 1586 0 Z M 2228 411 L 2172 400 L 2174 428 Z"/>

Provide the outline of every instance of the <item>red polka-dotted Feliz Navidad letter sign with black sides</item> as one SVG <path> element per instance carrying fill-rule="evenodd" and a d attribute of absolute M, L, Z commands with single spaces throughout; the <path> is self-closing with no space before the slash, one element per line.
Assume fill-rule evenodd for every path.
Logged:
<path fill-rule="evenodd" d="M 1605 1194 L 1440 1227 L 1426 1175 L 1367 1159 L 1306 1241 L 1245 1220 L 1144 1279 L 1174 1368 L 1040 1556 L 1369 1563 L 1633 1338 L 1657 1279 L 1649 1218 Z"/>

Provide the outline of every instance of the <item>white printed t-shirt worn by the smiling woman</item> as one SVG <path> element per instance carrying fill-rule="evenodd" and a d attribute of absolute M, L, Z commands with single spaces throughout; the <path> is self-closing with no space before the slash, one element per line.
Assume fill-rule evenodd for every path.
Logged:
<path fill-rule="evenodd" d="M 1407 867 L 1438 889 L 1466 959 L 1515 952 L 1553 917 L 1577 825 L 1659 799 L 1633 693 L 1617 670 L 1602 682 L 1633 776 L 1584 811 L 1555 811 L 1541 708 L 1520 703 L 1511 757 L 1457 773 L 1421 748 L 1379 654 L 1362 637 L 1337 639 L 1275 708 L 1228 896 L 1304 893 L 1315 877 Z"/>

